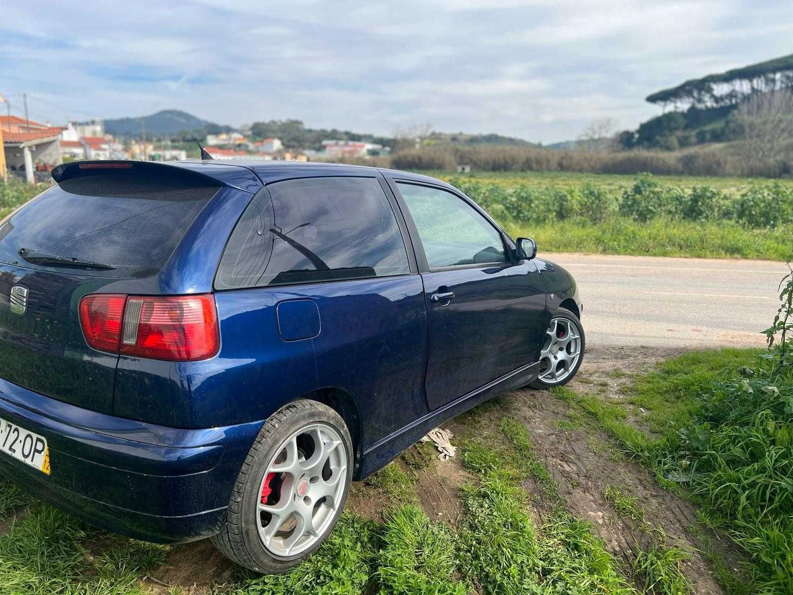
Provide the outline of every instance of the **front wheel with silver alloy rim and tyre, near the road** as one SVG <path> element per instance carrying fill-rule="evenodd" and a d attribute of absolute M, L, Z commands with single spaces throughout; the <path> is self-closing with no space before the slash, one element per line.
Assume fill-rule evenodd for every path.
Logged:
<path fill-rule="evenodd" d="M 534 389 L 567 384 L 576 375 L 584 359 L 584 327 L 568 309 L 554 313 L 542 340 L 538 376 L 529 383 Z"/>

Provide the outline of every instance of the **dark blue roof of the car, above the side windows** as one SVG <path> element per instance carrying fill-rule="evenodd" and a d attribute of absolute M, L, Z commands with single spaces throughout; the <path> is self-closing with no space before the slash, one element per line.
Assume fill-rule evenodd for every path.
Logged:
<path fill-rule="evenodd" d="M 293 178 L 316 178 L 328 175 L 367 175 L 368 172 L 381 172 L 393 178 L 412 182 L 428 182 L 440 186 L 452 187 L 450 184 L 428 175 L 414 174 L 409 171 L 384 169 L 365 165 L 348 165 L 347 163 L 319 163 L 312 161 L 256 161 L 253 159 L 187 159 L 185 161 L 166 162 L 177 167 L 184 167 L 209 175 L 210 177 L 235 176 L 240 167 L 254 173 L 263 184 Z M 221 171 L 224 175 L 221 175 Z"/>

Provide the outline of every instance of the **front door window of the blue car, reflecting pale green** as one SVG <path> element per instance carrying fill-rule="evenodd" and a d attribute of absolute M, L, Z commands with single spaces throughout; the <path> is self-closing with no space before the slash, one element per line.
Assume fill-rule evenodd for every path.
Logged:
<path fill-rule="evenodd" d="M 431 269 L 507 261 L 500 233 L 461 198 L 438 188 L 400 182 L 397 186 Z"/>

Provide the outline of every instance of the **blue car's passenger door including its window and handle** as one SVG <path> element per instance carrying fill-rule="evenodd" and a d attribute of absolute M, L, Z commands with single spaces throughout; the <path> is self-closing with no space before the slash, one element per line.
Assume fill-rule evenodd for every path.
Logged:
<path fill-rule="evenodd" d="M 425 388 L 438 409 L 538 360 L 546 325 L 537 267 L 516 261 L 473 202 L 439 186 L 397 181 L 412 228 L 428 318 Z"/>

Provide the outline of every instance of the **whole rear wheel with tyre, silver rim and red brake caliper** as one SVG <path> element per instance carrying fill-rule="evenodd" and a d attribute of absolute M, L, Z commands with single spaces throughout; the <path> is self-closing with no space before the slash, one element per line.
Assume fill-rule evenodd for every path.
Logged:
<path fill-rule="evenodd" d="M 344 421 L 316 401 L 295 401 L 259 432 L 213 543 L 255 572 L 279 573 L 316 551 L 347 501 L 352 441 Z"/>

